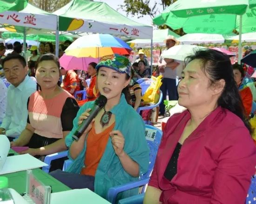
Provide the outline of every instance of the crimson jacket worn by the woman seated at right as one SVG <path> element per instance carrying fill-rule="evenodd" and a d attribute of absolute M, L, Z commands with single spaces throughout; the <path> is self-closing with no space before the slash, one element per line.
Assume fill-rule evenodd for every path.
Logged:
<path fill-rule="evenodd" d="M 189 111 L 169 118 L 148 185 L 162 190 L 165 204 L 244 204 L 255 173 L 256 147 L 243 121 L 221 107 L 184 141 L 175 177 L 170 182 L 164 178 L 189 119 Z"/>

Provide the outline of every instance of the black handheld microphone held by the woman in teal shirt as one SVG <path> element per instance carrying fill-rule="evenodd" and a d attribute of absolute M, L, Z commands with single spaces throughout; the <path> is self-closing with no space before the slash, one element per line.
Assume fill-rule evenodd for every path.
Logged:
<path fill-rule="evenodd" d="M 83 122 L 77 127 L 76 131 L 74 132 L 74 135 L 72 136 L 72 138 L 74 140 L 78 140 L 82 133 L 86 130 L 86 128 L 90 125 L 90 123 L 92 122 L 93 118 L 96 117 L 96 115 L 98 114 L 98 112 L 101 110 L 101 108 L 103 108 L 104 105 L 106 105 L 107 103 L 107 98 L 103 95 L 100 95 L 94 102 L 94 106 L 92 108 L 92 110 L 89 112 L 90 115 L 88 116 L 88 118 L 84 119 Z"/>

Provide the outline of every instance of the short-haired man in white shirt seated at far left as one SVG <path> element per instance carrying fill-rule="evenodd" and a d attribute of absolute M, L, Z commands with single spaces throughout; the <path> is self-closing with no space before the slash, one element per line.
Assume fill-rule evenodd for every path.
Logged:
<path fill-rule="evenodd" d="M 6 116 L 0 134 L 16 138 L 27 125 L 27 99 L 36 91 L 36 83 L 27 76 L 27 64 L 19 54 L 10 54 L 2 61 L 5 77 L 11 85 L 7 90 Z"/>

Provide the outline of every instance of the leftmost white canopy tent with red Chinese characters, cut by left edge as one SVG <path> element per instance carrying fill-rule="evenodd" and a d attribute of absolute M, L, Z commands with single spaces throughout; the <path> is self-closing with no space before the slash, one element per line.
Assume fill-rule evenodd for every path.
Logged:
<path fill-rule="evenodd" d="M 41 10 L 29 3 L 27 7 L 19 12 L 5 11 L 0 13 L 0 17 L 1 31 L 23 33 L 24 42 L 26 42 L 26 34 L 57 30 L 56 15 Z M 24 49 L 26 49 L 25 46 Z"/>

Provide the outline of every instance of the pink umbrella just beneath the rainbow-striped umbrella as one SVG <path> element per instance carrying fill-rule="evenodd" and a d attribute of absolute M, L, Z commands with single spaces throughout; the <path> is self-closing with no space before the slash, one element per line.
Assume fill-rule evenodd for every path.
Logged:
<path fill-rule="evenodd" d="M 87 71 L 88 65 L 91 62 L 99 62 L 97 58 L 90 58 L 90 57 L 74 57 L 66 55 L 65 53 L 60 58 L 61 66 L 66 70 L 84 70 Z"/>

